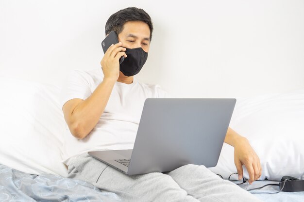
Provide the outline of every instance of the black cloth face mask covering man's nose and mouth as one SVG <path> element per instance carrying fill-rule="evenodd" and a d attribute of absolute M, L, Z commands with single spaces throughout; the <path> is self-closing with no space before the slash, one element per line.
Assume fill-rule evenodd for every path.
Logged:
<path fill-rule="evenodd" d="M 141 47 L 138 48 L 126 48 L 126 57 L 119 65 L 119 70 L 127 77 L 134 76 L 144 66 L 148 58 L 148 53 Z"/>

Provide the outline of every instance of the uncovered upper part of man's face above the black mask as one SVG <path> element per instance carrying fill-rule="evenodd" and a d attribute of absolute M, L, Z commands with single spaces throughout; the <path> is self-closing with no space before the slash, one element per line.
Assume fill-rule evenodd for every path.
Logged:
<path fill-rule="evenodd" d="M 142 21 L 128 21 L 124 23 L 123 30 L 118 34 L 118 41 L 122 42 L 122 47 L 142 47 L 145 52 L 149 52 L 149 26 Z"/>

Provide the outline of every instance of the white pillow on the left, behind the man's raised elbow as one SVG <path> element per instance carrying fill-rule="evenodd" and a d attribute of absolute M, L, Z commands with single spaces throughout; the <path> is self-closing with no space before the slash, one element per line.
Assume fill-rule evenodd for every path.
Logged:
<path fill-rule="evenodd" d="M 60 88 L 0 77 L 0 164 L 31 174 L 66 176 Z"/>

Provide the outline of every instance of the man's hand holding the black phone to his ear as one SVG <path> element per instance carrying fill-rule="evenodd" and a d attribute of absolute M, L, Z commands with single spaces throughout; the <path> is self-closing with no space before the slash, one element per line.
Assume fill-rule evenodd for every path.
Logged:
<path fill-rule="evenodd" d="M 126 48 L 121 47 L 122 43 L 118 42 L 111 45 L 105 52 L 101 60 L 101 68 L 104 78 L 113 78 L 115 81 L 119 77 L 119 58 L 121 56 L 127 57 L 124 52 Z"/>

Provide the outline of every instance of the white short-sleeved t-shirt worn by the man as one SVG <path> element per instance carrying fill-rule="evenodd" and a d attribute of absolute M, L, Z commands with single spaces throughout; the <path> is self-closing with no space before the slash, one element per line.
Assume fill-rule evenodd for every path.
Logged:
<path fill-rule="evenodd" d="M 61 93 L 61 107 L 74 98 L 88 98 L 103 79 L 101 68 L 91 71 L 73 70 Z M 88 151 L 133 149 L 141 112 L 146 98 L 169 97 L 159 85 L 139 82 L 117 82 L 109 101 L 93 130 L 82 140 L 75 138 L 68 125 L 64 134 L 63 163 Z"/>

